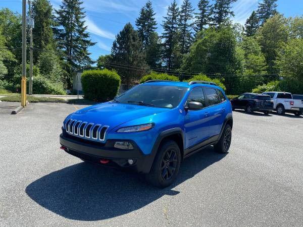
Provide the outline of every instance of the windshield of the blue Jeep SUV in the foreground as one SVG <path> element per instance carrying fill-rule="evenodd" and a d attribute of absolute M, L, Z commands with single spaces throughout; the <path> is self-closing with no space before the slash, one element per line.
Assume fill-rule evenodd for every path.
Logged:
<path fill-rule="evenodd" d="M 138 85 L 116 98 L 115 101 L 134 105 L 174 108 L 180 103 L 186 91 L 186 87 Z"/>

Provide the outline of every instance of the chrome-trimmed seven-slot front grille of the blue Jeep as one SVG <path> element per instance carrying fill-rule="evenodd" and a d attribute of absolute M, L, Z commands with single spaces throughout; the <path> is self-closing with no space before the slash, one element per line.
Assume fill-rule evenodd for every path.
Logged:
<path fill-rule="evenodd" d="M 65 131 L 68 134 L 95 141 L 104 141 L 108 129 L 107 125 L 102 126 L 73 119 L 69 119 L 65 123 Z"/>

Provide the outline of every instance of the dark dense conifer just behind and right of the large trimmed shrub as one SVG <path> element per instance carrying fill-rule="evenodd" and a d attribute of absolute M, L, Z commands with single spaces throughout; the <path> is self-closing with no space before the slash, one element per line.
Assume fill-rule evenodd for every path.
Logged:
<path fill-rule="evenodd" d="M 116 36 L 112 46 L 112 64 L 109 65 L 118 71 L 122 82 L 127 85 L 144 73 L 145 52 L 138 32 L 130 23 Z"/>

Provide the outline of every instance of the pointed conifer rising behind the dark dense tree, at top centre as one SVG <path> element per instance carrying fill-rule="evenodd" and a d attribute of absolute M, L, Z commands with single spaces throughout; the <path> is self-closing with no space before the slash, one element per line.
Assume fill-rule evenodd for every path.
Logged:
<path fill-rule="evenodd" d="M 151 35 L 157 29 L 155 15 L 156 13 L 154 13 L 151 2 L 148 0 L 145 6 L 140 10 L 139 17 L 136 19 L 138 35 L 144 47 L 150 44 Z"/>

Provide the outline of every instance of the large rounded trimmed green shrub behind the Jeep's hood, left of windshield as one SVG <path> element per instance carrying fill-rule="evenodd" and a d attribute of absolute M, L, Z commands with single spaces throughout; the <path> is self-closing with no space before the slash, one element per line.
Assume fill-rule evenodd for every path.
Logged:
<path fill-rule="evenodd" d="M 81 82 L 85 98 L 103 102 L 117 95 L 121 78 L 113 70 L 87 70 L 83 72 Z"/>

